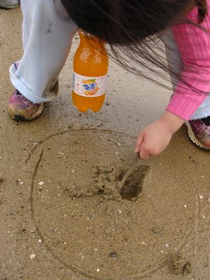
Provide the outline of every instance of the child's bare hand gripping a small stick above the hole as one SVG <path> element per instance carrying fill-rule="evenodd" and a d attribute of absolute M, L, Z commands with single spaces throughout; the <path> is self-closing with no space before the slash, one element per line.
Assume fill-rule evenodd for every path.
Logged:
<path fill-rule="evenodd" d="M 141 160 L 160 155 L 168 146 L 174 132 L 179 130 L 183 123 L 183 119 L 166 111 L 159 120 L 151 123 L 140 132 L 135 153 L 139 153 Z"/>

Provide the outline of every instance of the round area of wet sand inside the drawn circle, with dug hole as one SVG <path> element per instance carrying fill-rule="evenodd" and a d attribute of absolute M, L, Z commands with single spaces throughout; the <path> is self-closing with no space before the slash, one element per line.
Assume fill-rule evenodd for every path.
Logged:
<path fill-rule="evenodd" d="M 165 265 L 162 253 L 186 237 L 183 219 L 191 212 L 177 213 L 186 191 L 174 185 L 181 167 L 172 174 L 155 160 L 139 165 L 118 190 L 133 144 L 126 134 L 78 130 L 48 137 L 32 153 L 41 153 L 31 184 L 36 229 L 54 257 L 83 276 L 142 279 Z"/>

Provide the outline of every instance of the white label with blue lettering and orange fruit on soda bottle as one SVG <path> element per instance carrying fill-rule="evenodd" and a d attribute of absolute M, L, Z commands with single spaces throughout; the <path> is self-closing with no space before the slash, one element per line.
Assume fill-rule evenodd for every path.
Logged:
<path fill-rule="evenodd" d="M 99 97 L 103 95 L 106 92 L 106 75 L 87 77 L 73 72 L 73 92 L 83 97 Z"/>

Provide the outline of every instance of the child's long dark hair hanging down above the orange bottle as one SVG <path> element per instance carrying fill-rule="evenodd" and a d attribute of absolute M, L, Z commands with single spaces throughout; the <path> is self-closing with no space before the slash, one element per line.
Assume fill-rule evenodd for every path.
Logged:
<path fill-rule="evenodd" d="M 207 0 L 61 1 L 78 27 L 111 45 L 118 64 L 145 78 L 149 76 L 144 69 L 152 69 L 160 76 L 160 71 L 152 64 L 177 76 L 166 65 L 160 49 L 157 51 L 157 36 L 154 35 L 176 23 L 187 22 L 184 15 L 195 6 L 197 24 L 193 25 L 199 26 L 207 15 Z"/>

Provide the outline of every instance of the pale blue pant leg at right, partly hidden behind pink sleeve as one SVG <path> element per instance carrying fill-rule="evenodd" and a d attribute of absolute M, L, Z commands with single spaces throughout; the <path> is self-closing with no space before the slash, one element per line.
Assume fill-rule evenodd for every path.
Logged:
<path fill-rule="evenodd" d="M 171 29 L 169 29 L 164 35 L 162 35 L 161 40 L 165 43 L 167 62 L 169 67 L 173 69 L 176 73 L 181 73 L 183 70 L 183 61 L 181 59 L 181 54 L 179 48 L 174 39 L 174 34 Z M 179 83 L 178 78 L 171 76 L 172 85 L 175 90 L 176 85 Z M 207 118 L 210 116 L 210 94 L 204 100 L 204 102 L 195 111 L 191 120 L 197 120 L 199 118 Z"/>

